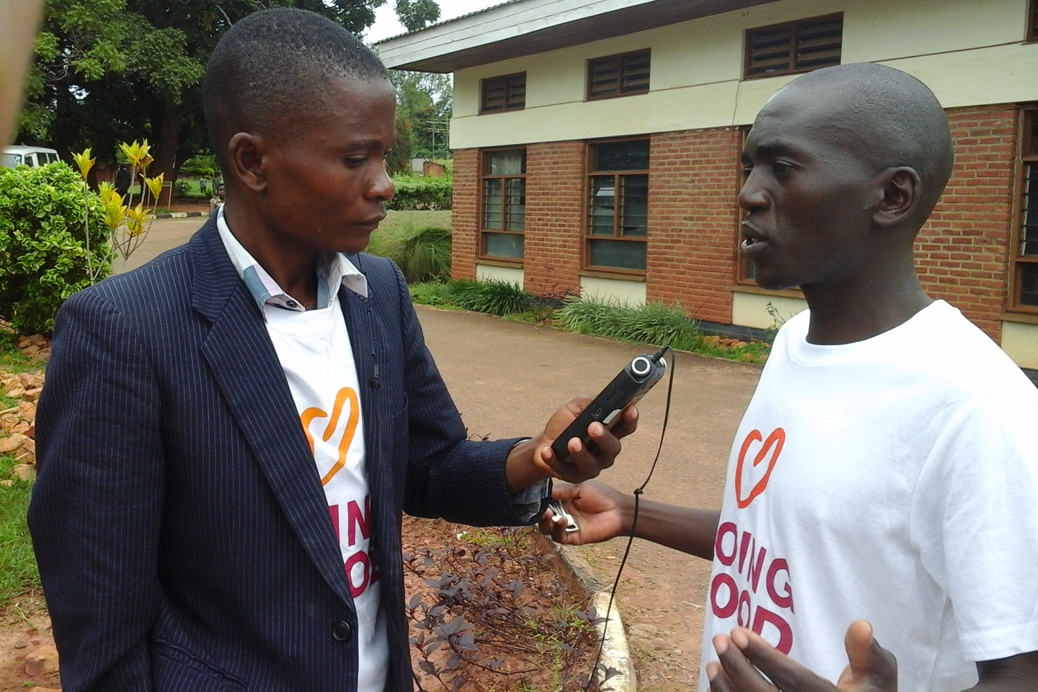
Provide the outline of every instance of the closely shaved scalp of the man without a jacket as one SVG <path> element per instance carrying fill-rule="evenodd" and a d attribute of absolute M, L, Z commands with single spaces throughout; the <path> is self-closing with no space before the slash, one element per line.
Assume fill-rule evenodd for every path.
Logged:
<path fill-rule="evenodd" d="M 791 92 L 811 95 L 841 141 L 879 169 L 907 166 L 923 182 L 920 212 L 933 210 L 952 174 L 955 150 L 948 116 L 923 82 L 900 70 L 869 62 L 825 67 L 790 82 L 762 114 L 781 108 Z M 835 117 L 834 117 L 835 116 Z"/>

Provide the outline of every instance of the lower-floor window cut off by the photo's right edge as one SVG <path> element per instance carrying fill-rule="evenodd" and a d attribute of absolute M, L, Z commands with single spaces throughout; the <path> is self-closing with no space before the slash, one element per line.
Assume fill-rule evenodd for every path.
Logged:
<path fill-rule="evenodd" d="M 1018 227 L 1013 239 L 1013 307 L 1038 312 L 1038 106 L 1025 109 Z"/>

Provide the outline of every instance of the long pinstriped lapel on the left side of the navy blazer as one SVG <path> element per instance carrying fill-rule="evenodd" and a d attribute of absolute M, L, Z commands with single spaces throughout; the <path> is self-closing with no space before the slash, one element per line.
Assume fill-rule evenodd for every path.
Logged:
<path fill-rule="evenodd" d="M 310 559 L 336 593 L 352 603 L 328 502 L 260 308 L 214 222 L 192 239 L 191 251 L 192 305 L 212 323 L 202 354 Z"/>

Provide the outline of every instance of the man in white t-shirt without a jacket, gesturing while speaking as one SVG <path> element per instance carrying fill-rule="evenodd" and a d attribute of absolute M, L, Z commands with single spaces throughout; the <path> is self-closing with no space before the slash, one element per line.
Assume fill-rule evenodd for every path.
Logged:
<path fill-rule="evenodd" d="M 809 309 L 722 508 L 643 500 L 634 531 L 713 561 L 702 689 L 1038 689 L 1038 390 L 913 266 L 953 159 L 930 90 L 875 64 L 794 80 L 746 138 L 740 251 Z M 555 496 L 580 526 L 557 541 L 632 533 L 630 497 Z"/>

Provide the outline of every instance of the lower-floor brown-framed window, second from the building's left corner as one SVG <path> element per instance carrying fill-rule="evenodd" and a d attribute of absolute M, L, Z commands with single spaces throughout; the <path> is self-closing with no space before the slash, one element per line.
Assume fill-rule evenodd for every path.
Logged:
<path fill-rule="evenodd" d="M 649 231 L 649 140 L 602 142 L 589 147 L 589 269 L 646 270 Z"/>

